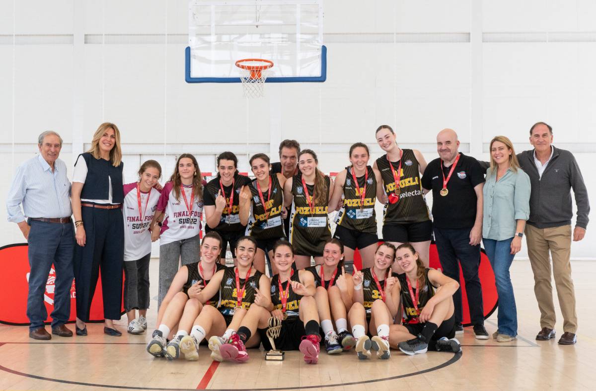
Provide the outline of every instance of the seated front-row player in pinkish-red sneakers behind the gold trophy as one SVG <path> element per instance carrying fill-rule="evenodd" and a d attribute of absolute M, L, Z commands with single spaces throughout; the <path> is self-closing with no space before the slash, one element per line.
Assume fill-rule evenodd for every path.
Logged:
<path fill-rule="evenodd" d="M 262 307 L 251 307 L 242 320 L 237 334 L 221 346 L 221 354 L 231 361 L 246 361 L 246 346 L 258 346 L 251 336 L 259 331 L 265 350 L 272 346 L 266 337 L 271 316 L 281 320 L 280 336 L 274 340 L 278 350 L 296 350 L 304 354 L 308 364 L 316 364 L 319 359 L 319 316 L 316 312 L 315 281 L 311 272 L 294 271 L 294 251 L 288 241 L 280 240 L 274 246 L 273 263 L 278 274 L 271 279 L 271 313 Z"/>

